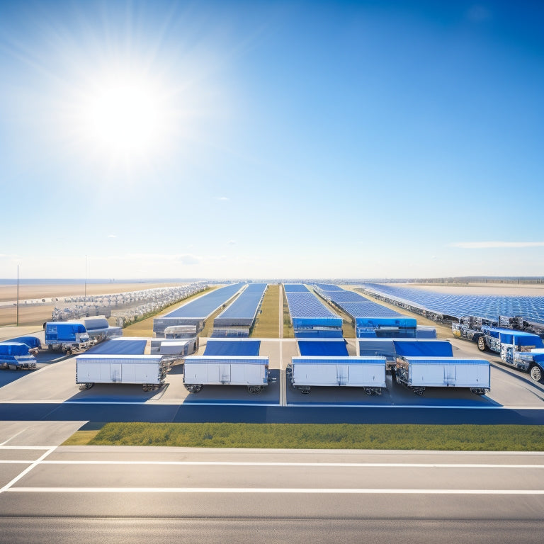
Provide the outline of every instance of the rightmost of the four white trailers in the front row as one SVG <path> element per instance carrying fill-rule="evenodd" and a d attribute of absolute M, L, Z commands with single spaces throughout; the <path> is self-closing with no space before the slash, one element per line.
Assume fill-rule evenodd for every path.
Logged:
<path fill-rule="evenodd" d="M 397 357 L 397 383 L 423 395 L 426 387 L 467 387 L 476 395 L 490 390 L 491 365 L 485 359 Z"/>

